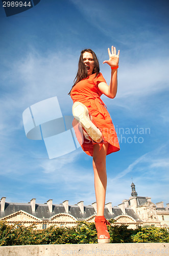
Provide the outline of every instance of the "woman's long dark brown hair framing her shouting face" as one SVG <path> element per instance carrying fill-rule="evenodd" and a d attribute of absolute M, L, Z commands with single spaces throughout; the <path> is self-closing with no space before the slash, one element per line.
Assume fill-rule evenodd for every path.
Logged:
<path fill-rule="evenodd" d="M 98 60 L 97 56 L 95 55 L 95 53 L 91 49 L 84 49 L 83 51 L 81 51 L 81 54 L 80 54 L 79 64 L 78 64 L 78 72 L 77 72 L 77 75 L 74 79 L 73 87 L 79 81 L 81 81 L 81 80 L 83 80 L 87 77 L 87 70 L 86 70 L 86 67 L 85 67 L 84 62 L 83 62 L 83 53 L 84 52 L 90 52 L 93 56 L 94 69 L 93 69 L 92 74 L 95 73 L 95 77 L 97 77 L 99 75 L 99 72 L 100 72 L 99 60 Z M 73 87 L 71 88 L 71 90 L 73 89 Z M 70 90 L 70 92 L 71 92 L 71 90 Z M 70 92 L 68 93 L 69 95 L 70 95 Z"/>

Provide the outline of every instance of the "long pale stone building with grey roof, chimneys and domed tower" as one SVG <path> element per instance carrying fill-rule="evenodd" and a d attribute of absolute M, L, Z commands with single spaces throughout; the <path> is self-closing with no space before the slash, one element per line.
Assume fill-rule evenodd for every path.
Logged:
<path fill-rule="evenodd" d="M 104 215 L 107 220 L 114 219 L 112 225 L 128 225 L 128 228 L 138 226 L 169 227 L 169 203 L 164 207 L 163 202 L 154 204 L 150 197 L 138 197 L 134 183 L 131 184 L 131 197 L 123 200 L 118 206 L 112 203 L 105 205 Z M 37 204 L 33 198 L 29 203 L 8 203 L 2 197 L 0 203 L 0 220 L 8 224 L 30 226 L 39 229 L 50 226 L 75 226 L 78 221 L 94 222 L 96 202 L 84 205 L 83 201 L 69 205 L 68 200 L 61 204 L 53 204 L 50 199 L 44 204 Z"/>

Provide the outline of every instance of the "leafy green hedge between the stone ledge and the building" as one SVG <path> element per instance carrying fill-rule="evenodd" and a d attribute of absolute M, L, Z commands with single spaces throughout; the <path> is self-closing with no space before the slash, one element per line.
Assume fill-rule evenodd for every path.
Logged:
<path fill-rule="evenodd" d="M 110 243 L 168 243 L 169 232 L 164 228 L 108 226 Z M 0 222 L 0 246 L 35 244 L 91 244 L 97 243 L 94 223 L 78 222 L 76 227 L 55 227 L 36 229 L 35 226 L 8 225 Z"/>

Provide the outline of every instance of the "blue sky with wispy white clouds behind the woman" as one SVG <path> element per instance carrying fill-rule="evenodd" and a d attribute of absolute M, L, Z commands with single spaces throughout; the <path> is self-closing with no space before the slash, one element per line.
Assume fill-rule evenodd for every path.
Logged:
<path fill-rule="evenodd" d="M 43 141 L 25 135 L 22 112 L 57 96 L 71 115 L 67 95 L 81 50 L 91 48 L 107 83 L 111 45 L 120 50 L 118 92 L 102 96 L 119 137 L 120 151 L 107 156 L 106 203 L 138 196 L 169 202 L 167 1 L 41 0 L 6 17 L 0 6 L 1 197 L 8 202 L 53 199 L 95 202 L 92 158 L 81 148 L 49 159 Z"/>

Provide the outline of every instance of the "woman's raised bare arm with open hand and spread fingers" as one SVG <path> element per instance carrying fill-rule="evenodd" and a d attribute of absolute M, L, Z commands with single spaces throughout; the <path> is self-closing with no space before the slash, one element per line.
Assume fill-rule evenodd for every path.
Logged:
<path fill-rule="evenodd" d="M 118 53 L 116 54 L 116 49 L 115 47 L 112 46 L 111 52 L 110 52 L 110 49 L 108 48 L 108 54 L 109 54 L 109 60 L 105 60 L 103 61 L 103 63 L 107 63 L 111 68 L 117 67 L 118 60 L 119 60 L 119 50 L 118 50 Z M 117 93 L 117 69 L 111 69 L 111 79 L 110 79 L 109 86 L 105 82 L 100 82 L 98 84 L 98 88 L 107 97 L 111 99 L 115 98 Z"/>

